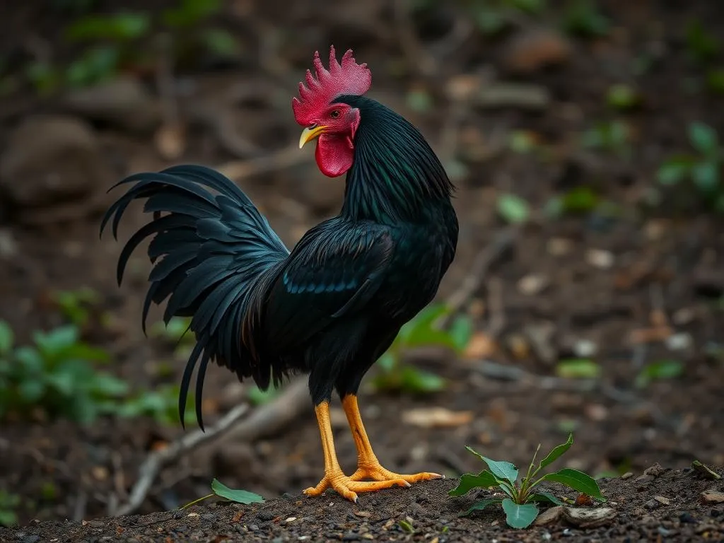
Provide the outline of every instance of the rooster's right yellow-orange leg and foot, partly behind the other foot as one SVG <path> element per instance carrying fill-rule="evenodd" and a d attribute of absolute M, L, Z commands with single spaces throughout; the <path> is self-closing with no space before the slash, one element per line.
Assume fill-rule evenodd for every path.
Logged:
<path fill-rule="evenodd" d="M 342 400 L 342 408 L 347 415 L 347 421 L 352 430 L 352 437 L 357 447 L 357 471 L 350 476 L 353 481 L 361 481 L 362 479 L 372 479 L 374 481 L 398 481 L 402 479 L 408 483 L 416 483 L 418 481 L 429 481 L 430 479 L 442 479 L 439 473 L 413 473 L 412 475 L 400 475 L 388 469 L 383 468 L 377 457 L 374 455 L 372 445 L 370 445 L 369 437 L 365 432 L 362 417 L 357 405 L 357 397 L 355 395 L 345 396 Z"/>

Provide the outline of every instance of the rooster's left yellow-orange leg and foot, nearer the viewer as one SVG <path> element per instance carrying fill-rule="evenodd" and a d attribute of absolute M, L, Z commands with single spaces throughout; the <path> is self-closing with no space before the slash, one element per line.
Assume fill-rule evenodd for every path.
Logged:
<path fill-rule="evenodd" d="M 359 482 L 344 473 L 337 461 L 337 452 L 334 451 L 334 437 L 332 436 L 332 423 L 329 421 L 329 403 L 322 402 L 314 408 L 321 434 L 321 448 L 324 451 L 324 477 L 316 487 L 304 491 L 309 496 L 319 496 L 328 488 L 342 494 L 348 500 L 357 502 L 357 492 L 373 492 L 384 488 L 409 487 L 410 484 L 398 477 L 386 478 L 375 482 Z"/>

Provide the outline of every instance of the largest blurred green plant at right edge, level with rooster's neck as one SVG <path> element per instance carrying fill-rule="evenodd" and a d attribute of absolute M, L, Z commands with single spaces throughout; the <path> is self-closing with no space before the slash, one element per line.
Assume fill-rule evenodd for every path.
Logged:
<path fill-rule="evenodd" d="M 717 211 L 724 211 L 724 186 L 720 175 L 724 153 L 717 132 L 703 122 L 692 122 L 689 143 L 696 153 L 679 154 L 665 161 L 657 173 L 659 182 L 678 185 L 691 180 L 705 201 Z"/>

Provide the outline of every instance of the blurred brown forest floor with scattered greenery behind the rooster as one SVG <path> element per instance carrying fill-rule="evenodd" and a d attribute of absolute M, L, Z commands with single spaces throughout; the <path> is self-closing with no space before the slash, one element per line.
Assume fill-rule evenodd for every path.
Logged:
<path fill-rule="evenodd" d="M 143 460 L 195 432 L 176 413 L 193 339 L 159 311 L 144 337 L 146 257 L 117 287 L 122 245 L 98 226 L 114 182 L 179 162 L 235 180 L 289 245 L 336 214 L 344 181 L 298 150 L 290 107 L 330 43 L 369 64 L 370 95 L 421 128 L 458 186 L 439 299 L 363 384 L 382 462 L 457 476 L 477 466 L 465 445 L 523 463 L 573 432 L 568 466 L 596 476 L 723 465 L 716 4 L 6 3 L 0 523 L 176 508 L 214 477 L 266 497 L 316 484 L 306 390 L 265 394 L 214 366 L 207 424 L 245 403 L 248 416 L 131 500 Z M 121 240 L 144 217 L 127 219 Z"/>

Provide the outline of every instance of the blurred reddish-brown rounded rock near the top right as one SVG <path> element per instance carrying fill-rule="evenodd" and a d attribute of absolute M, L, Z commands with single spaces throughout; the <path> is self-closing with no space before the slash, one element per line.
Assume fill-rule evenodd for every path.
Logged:
<path fill-rule="evenodd" d="M 567 62 L 571 45 L 562 35 L 543 28 L 522 30 L 505 45 L 502 65 L 515 74 L 532 74 L 544 67 Z"/>

